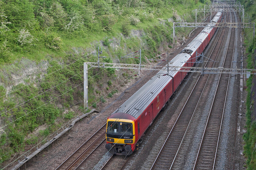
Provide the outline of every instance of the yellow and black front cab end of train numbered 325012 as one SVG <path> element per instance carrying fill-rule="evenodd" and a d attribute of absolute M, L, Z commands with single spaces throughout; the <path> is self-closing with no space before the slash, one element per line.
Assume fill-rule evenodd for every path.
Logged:
<path fill-rule="evenodd" d="M 108 119 L 105 148 L 111 154 L 131 155 L 135 149 L 134 121 L 127 119 Z"/>

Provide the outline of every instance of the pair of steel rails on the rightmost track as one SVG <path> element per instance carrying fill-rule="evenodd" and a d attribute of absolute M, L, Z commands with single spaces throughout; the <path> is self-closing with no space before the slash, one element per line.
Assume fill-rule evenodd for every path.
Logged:
<path fill-rule="evenodd" d="M 229 43 L 230 43 L 230 39 L 231 39 L 231 33 L 232 33 L 232 29 L 230 31 L 230 36 L 229 36 Z M 235 36 L 234 36 L 235 37 Z M 229 47 L 229 43 L 228 43 L 228 47 Z M 234 42 L 235 44 L 235 42 Z M 228 51 L 228 49 L 227 49 Z M 225 54 L 225 60 L 224 60 L 224 63 L 223 63 L 223 66 L 225 64 L 225 61 L 226 61 L 226 56 L 227 56 L 227 51 L 226 51 L 226 54 Z M 233 52 L 234 52 L 234 48 L 233 48 Z M 232 60 L 233 60 L 233 54 L 232 54 Z M 232 68 L 232 60 L 231 60 L 231 68 Z M 217 85 L 217 88 L 216 88 L 216 91 L 215 91 L 215 95 L 214 95 L 214 99 L 213 99 L 213 102 L 212 102 L 212 106 L 211 106 L 211 109 L 210 109 L 210 112 L 209 112 L 209 115 L 208 115 L 208 119 L 207 119 L 207 122 L 206 122 L 206 126 L 205 126 L 205 129 L 204 129 L 204 133 L 203 133 L 203 137 L 202 137 L 202 140 L 201 140 L 201 143 L 200 143 L 200 146 L 199 146 L 199 150 L 198 150 L 198 153 L 197 153 L 197 158 L 195 160 L 195 164 L 194 164 L 194 168 L 193 170 L 196 168 L 196 165 L 197 165 L 197 162 L 198 162 L 198 159 L 199 159 L 199 153 L 201 151 L 201 146 L 202 146 L 202 143 L 203 143 L 203 140 L 204 140 L 204 136 L 205 136 L 205 132 L 206 132 L 206 128 L 207 128 L 207 125 L 208 123 L 210 122 L 209 121 L 209 118 L 210 118 L 210 115 L 212 113 L 212 109 L 213 109 L 213 104 L 214 102 L 216 101 L 215 100 L 215 97 L 216 97 L 216 93 L 217 93 L 217 90 L 218 90 L 218 87 L 219 87 L 219 82 L 220 82 L 220 79 L 221 79 L 221 76 L 223 74 L 220 75 L 220 78 L 219 78 L 219 81 L 218 81 L 218 85 Z M 229 74 L 229 80 L 230 80 L 230 74 Z M 229 85 L 229 80 L 228 80 L 228 85 Z M 224 114 L 224 109 L 225 109 L 225 104 L 226 104 L 226 97 L 227 97 L 227 92 L 228 92 L 228 85 L 227 85 L 227 90 L 226 90 L 226 96 L 225 96 L 225 102 L 224 102 L 224 107 L 223 107 L 223 112 L 222 112 L 222 119 L 223 119 L 223 114 Z M 216 154 L 217 154 L 217 149 L 218 149 L 218 144 L 219 144 L 219 136 L 220 136 L 220 131 L 221 131 L 221 124 L 222 124 L 222 119 L 221 119 L 221 123 L 220 123 L 220 129 L 219 129 L 219 135 L 218 135 L 218 141 L 217 141 L 217 146 L 216 146 L 216 150 L 215 150 L 215 158 L 214 158 L 214 162 L 213 162 L 213 168 L 214 169 L 214 165 L 215 165 L 215 160 L 216 160 Z M 205 168 L 204 168 L 205 169 Z M 210 168 L 208 168 L 210 169 Z"/>

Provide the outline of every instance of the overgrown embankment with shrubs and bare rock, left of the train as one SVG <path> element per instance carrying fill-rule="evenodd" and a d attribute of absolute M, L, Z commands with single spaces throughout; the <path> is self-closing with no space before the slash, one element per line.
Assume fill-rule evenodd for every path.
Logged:
<path fill-rule="evenodd" d="M 138 62 L 120 56 L 143 48 L 146 63 L 159 49 L 171 48 L 171 22 L 194 21 L 192 11 L 201 2 L 0 0 L 0 163 L 40 146 L 84 111 L 83 62 L 98 60 L 98 46 L 104 46 L 101 56 L 108 63 Z M 177 32 L 186 35 L 189 29 Z M 114 69 L 90 69 L 88 74 L 93 107 L 129 78 Z M 80 103 L 80 113 L 72 112 L 70 107 Z"/>

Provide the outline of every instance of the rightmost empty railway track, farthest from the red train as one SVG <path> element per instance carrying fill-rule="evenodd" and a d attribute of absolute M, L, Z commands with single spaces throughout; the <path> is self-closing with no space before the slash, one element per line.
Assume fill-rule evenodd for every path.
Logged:
<path fill-rule="evenodd" d="M 228 49 L 225 55 L 225 61 L 222 67 L 232 68 L 235 34 L 236 29 L 232 28 L 230 32 Z M 228 51 L 232 51 L 232 53 L 228 53 Z M 197 158 L 194 164 L 194 169 L 214 169 L 223 114 L 228 93 L 229 80 L 230 74 L 228 77 L 226 74 L 221 74 L 219 77 L 214 100 L 212 102 L 212 107 L 208 116 L 200 148 L 198 150 Z"/>

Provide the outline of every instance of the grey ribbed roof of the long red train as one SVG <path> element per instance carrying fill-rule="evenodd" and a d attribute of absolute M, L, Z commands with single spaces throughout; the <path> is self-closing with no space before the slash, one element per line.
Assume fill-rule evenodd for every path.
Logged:
<path fill-rule="evenodd" d="M 221 12 L 218 12 L 216 17 L 216 21 L 220 17 Z M 215 17 L 212 21 L 215 21 Z M 197 49 L 202 39 L 208 36 L 208 33 L 212 30 L 212 27 L 205 28 L 204 32 L 199 33 L 195 39 L 193 39 L 187 47 L 184 49 L 191 49 L 193 53 L 194 50 Z M 184 50 L 183 49 L 183 50 Z M 179 53 L 176 55 L 170 62 L 169 66 L 184 66 L 185 62 L 192 54 L 188 53 Z M 169 75 L 172 77 L 175 76 L 177 71 L 169 71 Z M 126 100 L 118 109 L 116 109 L 109 118 L 121 118 L 116 117 L 125 113 L 123 115 L 129 114 L 135 119 L 137 119 L 140 114 L 149 106 L 149 104 L 157 97 L 157 95 L 164 89 L 164 87 L 172 80 L 171 76 L 159 76 L 167 74 L 167 65 L 160 70 L 154 77 L 152 77 L 147 83 L 145 83 L 137 92 L 135 92 L 128 100 Z M 126 116 L 128 118 L 128 116 Z"/>

